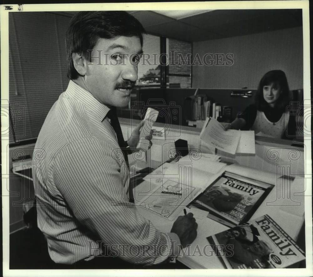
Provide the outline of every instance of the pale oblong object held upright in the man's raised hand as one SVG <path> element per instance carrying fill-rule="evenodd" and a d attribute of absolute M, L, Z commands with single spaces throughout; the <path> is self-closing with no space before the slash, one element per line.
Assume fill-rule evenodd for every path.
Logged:
<path fill-rule="evenodd" d="M 156 122 L 159 112 L 152 108 L 148 108 L 144 118 L 144 125 L 140 129 L 140 139 L 137 145 L 137 148 L 148 150 L 149 141 L 145 139 L 146 136 L 149 136 L 153 127 L 153 124 Z M 159 134 L 159 132 L 158 132 Z"/>

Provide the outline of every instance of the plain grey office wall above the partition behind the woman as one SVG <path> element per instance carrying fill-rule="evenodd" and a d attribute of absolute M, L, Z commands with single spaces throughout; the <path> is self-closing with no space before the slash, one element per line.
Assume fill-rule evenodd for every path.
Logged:
<path fill-rule="evenodd" d="M 272 69 L 285 71 L 291 90 L 303 88 L 302 27 L 194 42 L 193 59 L 197 53 L 200 57 L 206 53 L 233 53 L 234 63 L 194 65 L 193 88 L 256 89 L 261 77 Z"/>

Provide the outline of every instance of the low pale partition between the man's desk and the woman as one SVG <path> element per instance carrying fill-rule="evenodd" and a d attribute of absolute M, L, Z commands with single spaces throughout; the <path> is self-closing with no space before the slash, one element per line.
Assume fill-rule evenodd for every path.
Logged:
<path fill-rule="evenodd" d="M 123 136 L 126 139 L 130 136 L 133 126 L 136 126 L 140 121 L 121 118 L 120 122 Z M 161 129 L 163 128 L 166 135 L 164 139 L 156 138 L 152 140 L 151 151 L 147 151 L 146 153 L 146 166 L 154 168 L 154 166 L 151 166 L 152 164 L 168 160 L 167 153 L 172 148 L 175 148 L 174 141 L 178 139 L 187 140 L 189 150 L 201 150 L 204 153 L 214 154 L 214 149 L 209 149 L 200 140 L 199 134 L 201 129 L 171 124 L 164 125 L 161 123 L 155 123 L 155 126 Z M 305 148 L 303 147 L 294 146 L 291 140 L 255 136 L 255 155 L 231 155 L 223 151 L 217 151 L 217 154 L 226 162 L 238 163 L 243 166 L 273 173 L 277 171 L 277 167 L 281 168 L 284 164 L 284 170 L 289 170 L 291 175 L 296 174 L 301 177 L 305 172 L 306 156 L 304 150 Z M 129 161 L 132 160 L 133 158 L 129 156 Z M 144 165 L 142 166 L 144 167 Z"/>

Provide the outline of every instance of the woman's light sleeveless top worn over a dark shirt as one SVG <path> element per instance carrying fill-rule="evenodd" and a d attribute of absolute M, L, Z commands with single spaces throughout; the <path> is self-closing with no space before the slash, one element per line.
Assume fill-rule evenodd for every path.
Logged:
<path fill-rule="evenodd" d="M 257 111 L 255 121 L 250 130 L 254 130 L 255 135 L 259 132 L 263 136 L 282 138 L 287 129 L 289 121 L 289 113 L 283 113 L 277 122 L 269 121 L 263 111 Z"/>

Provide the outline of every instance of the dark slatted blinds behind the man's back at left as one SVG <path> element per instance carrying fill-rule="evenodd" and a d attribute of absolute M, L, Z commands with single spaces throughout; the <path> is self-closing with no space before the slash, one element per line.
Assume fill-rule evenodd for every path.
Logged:
<path fill-rule="evenodd" d="M 38 136 L 67 88 L 64 42 L 70 19 L 50 12 L 9 13 L 9 98 L 17 140 Z"/>

